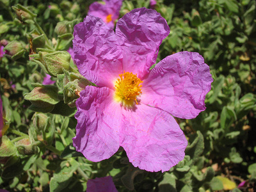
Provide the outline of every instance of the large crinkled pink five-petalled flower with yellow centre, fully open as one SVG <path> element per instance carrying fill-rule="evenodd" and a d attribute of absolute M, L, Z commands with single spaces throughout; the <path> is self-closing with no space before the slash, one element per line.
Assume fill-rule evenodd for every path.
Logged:
<path fill-rule="evenodd" d="M 134 166 L 150 172 L 184 159 L 188 142 L 173 116 L 204 111 L 212 77 L 197 52 L 172 54 L 149 70 L 169 33 L 166 20 L 146 8 L 124 15 L 116 33 L 93 16 L 75 26 L 74 60 L 97 84 L 76 101 L 73 143 L 90 161 L 108 159 L 120 146 Z"/>

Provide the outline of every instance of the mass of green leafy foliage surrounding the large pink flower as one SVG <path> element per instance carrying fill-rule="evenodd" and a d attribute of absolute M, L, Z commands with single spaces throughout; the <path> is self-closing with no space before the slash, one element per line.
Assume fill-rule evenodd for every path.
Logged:
<path fill-rule="evenodd" d="M 100 163 L 76 152 L 72 146 L 76 109 L 63 102 L 65 86 L 59 77 L 52 77 L 58 79 L 56 86 L 42 86 L 45 71 L 29 60 L 29 54 L 38 53 L 36 48 L 67 51 L 72 47 L 73 27 L 86 17 L 93 2 L 0 0 L 1 45 L 10 50 L 0 58 L 0 95 L 10 122 L 1 140 L 0 188 L 85 191 L 86 180 L 111 175 L 118 191 L 253 191 L 256 1 L 157 0 L 155 9 L 171 29 L 157 62 L 183 50 L 199 52 L 214 79 L 205 98 L 207 109 L 192 120 L 177 118 L 189 145 L 185 159 L 164 173 L 134 168 L 124 150 Z M 19 10 L 17 3 L 29 13 L 22 21 L 12 8 Z M 120 17 L 143 6 L 149 8 L 150 1 L 125 0 Z M 68 72 L 66 76 L 70 79 Z M 57 95 L 50 94 L 56 97 L 48 106 L 51 113 L 45 113 L 49 108 L 36 113 L 29 109 L 31 102 L 24 95 L 35 87 Z"/>

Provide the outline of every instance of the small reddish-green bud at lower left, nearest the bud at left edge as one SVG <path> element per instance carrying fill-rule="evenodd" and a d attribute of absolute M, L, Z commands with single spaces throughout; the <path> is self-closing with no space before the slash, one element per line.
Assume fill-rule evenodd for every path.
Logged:
<path fill-rule="evenodd" d="M 15 142 L 15 145 L 22 155 L 33 155 L 39 152 L 39 148 L 36 145 L 31 144 L 29 138 L 24 138 Z"/>

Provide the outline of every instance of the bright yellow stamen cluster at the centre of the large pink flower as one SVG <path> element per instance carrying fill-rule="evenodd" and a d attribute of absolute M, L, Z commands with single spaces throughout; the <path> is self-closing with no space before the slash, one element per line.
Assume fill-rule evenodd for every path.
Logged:
<path fill-rule="evenodd" d="M 133 106 L 134 100 L 138 104 L 137 96 L 141 94 L 141 81 L 137 74 L 132 74 L 132 72 L 124 72 L 124 74 L 119 75 L 115 83 L 115 100 L 122 102 L 125 106 Z"/>

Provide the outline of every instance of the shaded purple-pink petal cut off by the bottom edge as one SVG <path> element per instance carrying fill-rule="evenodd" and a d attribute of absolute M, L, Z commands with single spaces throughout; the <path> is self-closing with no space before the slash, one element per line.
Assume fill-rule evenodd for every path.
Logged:
<path fill-rule="evenodd" d="M 89 179 L 86 192 L 118 192 L 111 176 Z"/>

